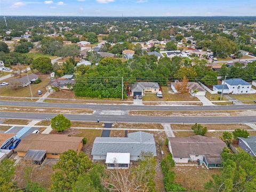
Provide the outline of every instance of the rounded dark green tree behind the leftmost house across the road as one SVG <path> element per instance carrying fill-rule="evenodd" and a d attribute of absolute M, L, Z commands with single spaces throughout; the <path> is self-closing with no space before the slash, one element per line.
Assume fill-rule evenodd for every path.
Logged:
<path fill-rule="evenodd" d="M 53 71 L 51 59 L 47 57 L 36 58 L 31 66 L 32 69 L 37 69 L 40 73 L 49 74 Z"/>

